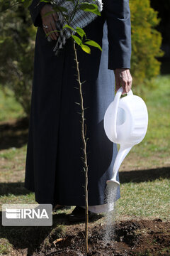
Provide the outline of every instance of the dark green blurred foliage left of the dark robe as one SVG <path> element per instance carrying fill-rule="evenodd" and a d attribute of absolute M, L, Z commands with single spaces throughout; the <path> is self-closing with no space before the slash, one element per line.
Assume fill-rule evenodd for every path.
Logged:
<path fill-rule="evenodd" d="M 8 97 L 6 87 L 10 87 L 29 116 L 36 28 L 22 3 L 0 0 L 0 10 L 1 89 Z"/>

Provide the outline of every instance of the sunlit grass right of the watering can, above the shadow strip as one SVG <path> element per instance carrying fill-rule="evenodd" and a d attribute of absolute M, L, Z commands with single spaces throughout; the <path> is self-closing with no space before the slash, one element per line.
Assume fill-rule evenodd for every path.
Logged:
<path fill-rule="evenodd" d="M 145 139 L 132 148 L 120 170 L 170 166 L 170 75 L 155 83 L 156 90 L 144 90 L 149 114 Z"/>

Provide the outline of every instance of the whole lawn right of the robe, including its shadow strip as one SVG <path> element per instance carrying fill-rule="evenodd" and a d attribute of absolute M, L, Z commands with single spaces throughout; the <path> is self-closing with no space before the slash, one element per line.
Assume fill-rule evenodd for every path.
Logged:
<path fill-rule="evenodd" d="M 117 206 L 119 215 L 170 220 L 170 75 L 159 76 L 156 84 L 156 90 L 144 90 L 149 114 L 147 134 L 120 167 L 121 198 Z"/>

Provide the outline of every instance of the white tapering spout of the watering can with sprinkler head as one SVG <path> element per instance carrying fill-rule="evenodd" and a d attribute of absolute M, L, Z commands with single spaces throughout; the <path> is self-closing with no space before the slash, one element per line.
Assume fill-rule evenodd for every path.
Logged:
<path fill-rule="evenodd" d="M 115 159 L 115 164 L 113 166 L 113 174 L 110 180 L 107 181 L 108 186 L 115 186 L 120 185 L 119 181 L 116 181 L 116 176 L 118 174 L 118 169 L 120 168 L 120 165 L 122 164 L 123 160 L 125 159 L 125 156 L 128 155 L 130 149 L 132 149 L 132 146 L 129 148 L 124 148 L 120 146 L 120 149 L 118 151 L 118 154 Z"/>

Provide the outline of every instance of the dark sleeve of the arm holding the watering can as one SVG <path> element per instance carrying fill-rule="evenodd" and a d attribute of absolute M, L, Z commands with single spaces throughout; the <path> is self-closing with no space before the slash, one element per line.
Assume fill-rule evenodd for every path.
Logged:
<path fill-rule="evenodd" d="M 108 25 L 108 69 L 130 68 L 131 23 L 129 0 L 103 0 Z"/>

